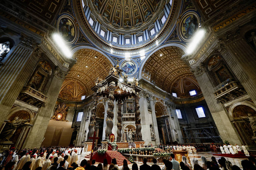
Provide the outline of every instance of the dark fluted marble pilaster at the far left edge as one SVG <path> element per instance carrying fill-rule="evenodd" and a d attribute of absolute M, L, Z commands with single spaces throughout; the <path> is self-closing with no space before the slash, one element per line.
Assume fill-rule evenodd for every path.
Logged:
<path fill-rule="evenodd" d="M 35 46 L 34 40 L 20 38 L 20 42 L 13 47 L 11 54 L 0 66 L 0 125 L 6 119 L 39 59 L 37 51 L 33 52 Z"/>

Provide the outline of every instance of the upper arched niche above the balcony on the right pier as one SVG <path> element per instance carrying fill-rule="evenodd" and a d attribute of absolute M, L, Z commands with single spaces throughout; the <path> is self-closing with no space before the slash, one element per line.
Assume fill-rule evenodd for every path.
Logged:
<path fill-rule="evenodd" d="M 214 80 L 215 86 L 226 80 L 229 81 L 235 78 L 235 76 L 233 76 L 234 74 L 232 71 L 230 71 L 222 56 L 218 54 L 215 54 L 209 58 L 207 69 Z"/>

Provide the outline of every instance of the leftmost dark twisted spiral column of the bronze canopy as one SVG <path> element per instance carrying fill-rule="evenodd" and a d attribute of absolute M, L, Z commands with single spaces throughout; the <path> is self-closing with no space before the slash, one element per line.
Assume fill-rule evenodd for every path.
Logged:
<path fill-rule="evenodd" d="M 92 140 L 92 139 L 88 139 L 89 137 L 92 137 L 93 136 L 93 133 L 94 133 L 94 127 L 95 127 L 95 124 L 96 124 L 96 109 L 97 109 L 97 103 L 98 103 L 98 96 L 96 95 L 96 93 L 94 93 L 93 95 L 93 108 L 92 108 L 92 114 L 91 114 L 91 117 L 90 117 L 90 123 L 89 123 L 89 132 L 88 132 L 88 137 L 87 137 L 87 140 Z"/>

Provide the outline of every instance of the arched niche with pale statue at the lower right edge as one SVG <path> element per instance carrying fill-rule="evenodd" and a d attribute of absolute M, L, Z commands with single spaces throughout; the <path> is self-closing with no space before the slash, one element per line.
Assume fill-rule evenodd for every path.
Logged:
<path fill-rule="evenodd" d="M 247 105 L 237 105 L 232 110 L 231 122 L 237 129 L 244 145 L 255 145 L 256 111 Z"/>

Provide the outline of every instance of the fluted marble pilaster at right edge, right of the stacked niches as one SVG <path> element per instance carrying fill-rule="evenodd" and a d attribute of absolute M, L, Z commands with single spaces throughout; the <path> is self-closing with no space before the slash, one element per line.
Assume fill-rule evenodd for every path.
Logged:
<path fill-rule="evenodd" d="M 242 38 L 238 30 L 227 33 L 225 38 L 220 39 L 219 51 L 254 104 L 256 104 L 255 50 Z"/>

